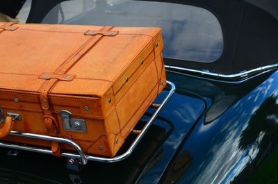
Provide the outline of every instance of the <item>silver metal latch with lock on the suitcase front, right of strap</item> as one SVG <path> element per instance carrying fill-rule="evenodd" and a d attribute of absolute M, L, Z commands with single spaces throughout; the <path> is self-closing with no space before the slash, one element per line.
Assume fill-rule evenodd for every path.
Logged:
<path fill-rule="evenodd" d="M 72 113 L 67 110 L 58 112 L 62 117 L 63 128 L 65 131 L 87 133 L 84 119 L 71 118 Z"/>

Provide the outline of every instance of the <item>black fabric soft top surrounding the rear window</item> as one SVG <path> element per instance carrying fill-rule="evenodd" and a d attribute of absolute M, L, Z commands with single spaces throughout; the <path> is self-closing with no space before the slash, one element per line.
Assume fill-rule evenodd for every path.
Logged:
<path fill-rule="evenodd" d="M 57 3 L 65 0 L 33 0 L 27 22 L 40 23 Z M 169 1 L 200 6 L 218 17 L 224 35 L 222 56 L 211 63 L 180 61 L 166 58 L 167 65 L 206 69 L 220 74 L 278 63 L 277 0 L 183 0 Z"/>

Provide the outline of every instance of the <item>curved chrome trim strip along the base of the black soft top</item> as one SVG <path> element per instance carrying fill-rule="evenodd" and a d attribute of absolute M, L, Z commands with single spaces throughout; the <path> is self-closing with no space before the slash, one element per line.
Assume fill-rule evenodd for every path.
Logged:
<path fill-rule="evenodd" d="M 204 72 L 202 70 L 197 70 L 197 69 L 189 69 L 189 68 L 174 67 L 174 66 L 170 66 L 170 65 L 165 65 L 165 69 L 168 69 L 168 70 L 174 69 L 174 70 L 183 71 L 183 72 L 191 72 L 191 73 L 195 73 L 195 74 L 221 78 L 223 80 L 229 80 L 229 81 L 236 80 L 238 78 L 243 79 L 243 78 L 246 78 L 247 76 L 250 76 L 250 74 L 264 72 L 265 70 L 275 69 L 277 67 L 278 67 L 278 64 L 275 64 L 275 65 L 267 65 L 267 66 L 264 66 L 264 67 L 250 69 L 248 71 L 240 72 L 238 74 L 216 74 L 216 73 L 213 73 L 213 72 Z"/>

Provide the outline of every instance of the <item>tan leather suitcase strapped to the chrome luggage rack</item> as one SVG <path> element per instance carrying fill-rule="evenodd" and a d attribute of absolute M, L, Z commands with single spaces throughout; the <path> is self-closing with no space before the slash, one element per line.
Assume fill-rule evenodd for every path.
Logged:
<path fill-rule="evenodd" d="M 0 22 L 1 140 L 115 156 L 166 85 L 162 49 L 160 28 Z"/>

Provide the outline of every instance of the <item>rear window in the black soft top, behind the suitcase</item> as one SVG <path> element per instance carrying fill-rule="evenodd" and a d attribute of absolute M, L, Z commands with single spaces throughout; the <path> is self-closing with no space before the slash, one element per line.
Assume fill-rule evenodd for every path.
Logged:
<path fill-rule="evenodd" d="M 54 7 L 42 23 L 161 27 L 164 58 L 195 62 L 218 60 L 223 35 L 208 10 L 180 3 L 131 0 L 73 0 Z"/>

